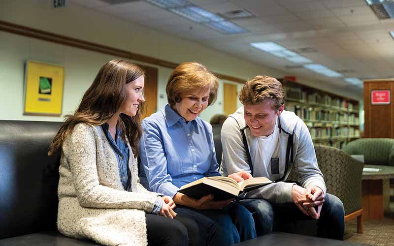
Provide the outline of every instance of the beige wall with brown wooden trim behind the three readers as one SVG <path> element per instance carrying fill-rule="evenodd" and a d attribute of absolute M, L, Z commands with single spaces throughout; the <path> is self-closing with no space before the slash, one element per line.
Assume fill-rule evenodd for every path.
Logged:
<path fill-rule="evenodd" d="M 0 20 L 170 62 L 201 62 L 212 71 L 243 79 L 258 74 L 275 77 L 284 75 L 281 71 L 240 60 L 197 43 L 150 30 L 69 1 L 66 8 L 56 9 L 52 8 L 51 2 L 51 0 L 1 0 Z M 0 119 L 62 121 L 63 115 L 75 110 L 99 67 L 110 59 L 113 57 L 0 31 Z M 65 67 L 62 117 L 23 116 L 23 80 L 26 60 L 56 63 Z M 160 109 L 166 103 L 165 83 L 171 69 L 157 67 L 159 68 L 158 109 Z M 302 78 L 299 80 L 307 85 L 316 86 L 312 81 Z M 204 120 L 209 121 L 213 114 L 222 113 L 222 88 L 221 85 L 217 102 L 201 114 Z M 351 92 L 343 92 L 341 89 L 327 85 L 319 85 L 319 88 L 360 99 L 358 95 Z M 160 98 L 161 94 L 164 98 Z M 237 105 L 240 105 L 239 102 Z"/>

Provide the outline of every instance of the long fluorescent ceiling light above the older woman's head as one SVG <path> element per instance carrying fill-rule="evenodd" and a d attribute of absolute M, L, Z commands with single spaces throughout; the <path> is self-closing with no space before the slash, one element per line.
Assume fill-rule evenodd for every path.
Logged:
<path fill-rule="evenodd" d="M 204 26 L 220 31 L 225 34 L 238 34 L 249 32 L 249 30 L 236 25 L 212 13 L 204 8 L 201 8 L 187 0 L 145 0 L 156 6 L 166 9 L 167 11 L 180 15 L 188 20 L 197 22 Z"/>

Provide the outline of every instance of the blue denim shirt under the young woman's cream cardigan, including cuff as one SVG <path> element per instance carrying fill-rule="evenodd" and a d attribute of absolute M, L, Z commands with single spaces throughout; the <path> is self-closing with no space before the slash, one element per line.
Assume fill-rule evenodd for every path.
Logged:
<path fill-rule="evenodd" d="M 116 127 L 115 140 L 109 133 L 108 123 L 101 125 L 101 127 L 118 160 L 120 181 L 122 182 L 123 188 L 125 190 L 128 190 L 128 187 L 131 183 L 131 173 L 129 169 L 129 147 L 125 143 L 125 141 L 123 141 L 121 137 L 122 131 L 118 127 Z M 164 201 L 160 198 L 156 199 L 155 205 L 152 210 L 153 214 L 158 214 L 160 212 L 163 207 L 163 202 Z"/>

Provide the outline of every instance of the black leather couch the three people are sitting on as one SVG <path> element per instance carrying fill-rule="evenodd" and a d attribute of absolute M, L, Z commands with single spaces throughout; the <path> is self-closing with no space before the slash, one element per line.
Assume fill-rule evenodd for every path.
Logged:
<path fill-rule="evenodd" d="M 0 246 L 94 246 L 57 231 L 60 157 L 48 156 L 62 123 L 0 120 Z M 221 126 L 214 126 L 221 160 Z M 248 245 L 353 245 L 277 232 L 241 243 Z"/>

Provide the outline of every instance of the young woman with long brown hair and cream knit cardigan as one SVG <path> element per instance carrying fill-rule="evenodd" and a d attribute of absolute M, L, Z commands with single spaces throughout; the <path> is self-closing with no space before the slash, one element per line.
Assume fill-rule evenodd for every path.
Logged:
<path fill-rule="evenodd" d="M 48 154 L 61 154 L 57 225 L 62 234 L 111 246 L 186 246 L 188 230 L 198 228 L 176 215 L 171 197 L 139 183 L 135 157 L 144 83 L 139 66 L 126 60 L 105 63 L 55 136 Z"/>

